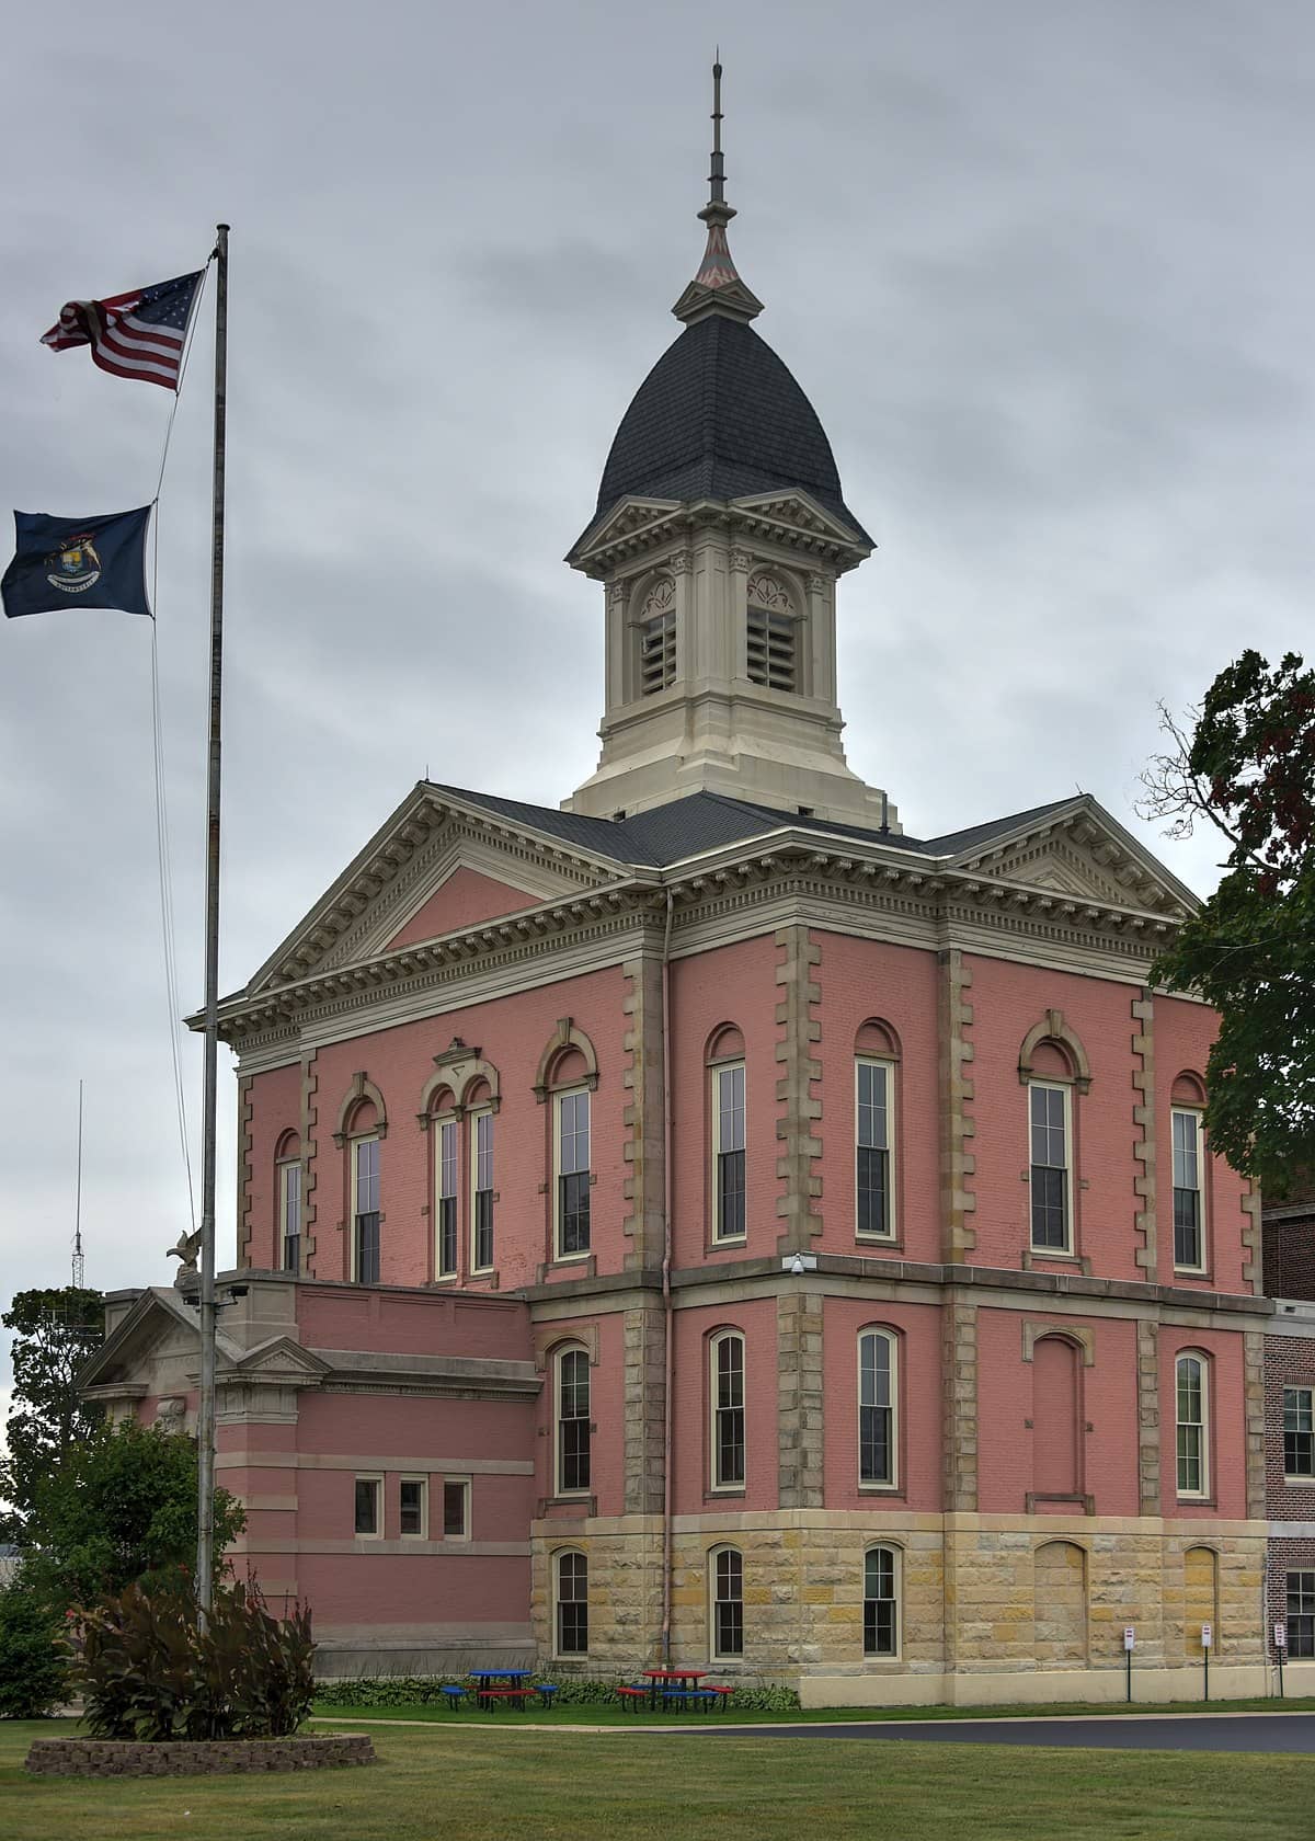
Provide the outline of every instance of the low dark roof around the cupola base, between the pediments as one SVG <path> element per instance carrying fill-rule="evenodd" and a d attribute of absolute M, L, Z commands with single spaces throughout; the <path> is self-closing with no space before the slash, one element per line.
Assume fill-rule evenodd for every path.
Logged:
<path fill-rule="evenodd" d="M 635 869 L 665 869 L 689 856 L 698 856 L 702 851 L 716 851 L 724 843 L 739 843 L 744 838 L 764 838 L 788 825 L 829 838 L 855 838 L 864 843 L 893 845 L 899 851 L 919 851 L 925 856 L 958 856 L 960 851 L 987 843 L 993 836 L 1006 836 L 1018 825 L 1072 805 L 1072 797 L 1053 799 L 1050 805 L 1015 812 L 1009 817 L 993 819 L 989 825 L 948 832 L 945 838 L 919 839 L 908 838 L 904 832 L 864 830 L 858 825 L 796 817 L 790 812 L 751 805 L 746 799 L 727 799 L 726 793 L 689 793 L 685 799 L 672 799 L 669 805 L 635 812 L 632 817 L 610 819 L 558 812 L 554 806 L 525 805 L 519 799 L 499 799 L 495 793 L 475 793 L 460 786 L 435 786 L 433 790 Z"/>

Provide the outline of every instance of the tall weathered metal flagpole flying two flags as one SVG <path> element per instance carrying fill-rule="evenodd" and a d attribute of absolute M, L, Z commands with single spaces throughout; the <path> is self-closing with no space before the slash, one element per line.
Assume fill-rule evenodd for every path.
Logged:
<path fill-rule="evenodd" d="M 206 1027 L 201 1117 L 201 1403 L 197 1408 L 197 1611 L 214 1602 L 215 1112 L 219 1090 L 219 762 L 223 712 L 223 490 L 228 399 L 228 225 L 215 241 L 214 538 L 210 550 L 210 768 L 206 775 Z"/>

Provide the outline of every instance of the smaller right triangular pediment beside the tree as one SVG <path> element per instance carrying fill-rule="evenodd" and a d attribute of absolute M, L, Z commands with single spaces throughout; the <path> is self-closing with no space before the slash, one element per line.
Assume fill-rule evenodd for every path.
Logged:
<path fill-rule="evenodd" d="M 1184 919 L 1195 908 L 1192 889 L 1087 793 L 1050 810 L 1041 823 L 956 852 L 952 863 L 980 876 L 1170 919 Z"/>

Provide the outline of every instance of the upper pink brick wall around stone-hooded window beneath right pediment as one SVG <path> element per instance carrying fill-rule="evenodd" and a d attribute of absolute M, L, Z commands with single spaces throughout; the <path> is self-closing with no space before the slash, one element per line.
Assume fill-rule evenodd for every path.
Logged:
<path fill-rule="evenodd" d="M 1090 1062 L 1088 1094 L 1074 1094 L 1076 1250 L 1088 1257 L 1100 1278 L 1142 1278 L 1135 1263 L 1133 1215 L 1133 1024 L 1136 992 L 1100 978 L 1077 978 L 1004 959 L 967 961 L 972 972 L 972 1117 L 971 1143 L 976 1160 L 974 1265 L 1018 1267 L 1030 1246 L 1028 1092 L 1018 1083 L 1022 1038 L 1044 1020 L 1048 1009 L 1063 1011 Z M 1063 1261 L 1033 1254 L 1041 1268 L 1063 1270 Z"/>

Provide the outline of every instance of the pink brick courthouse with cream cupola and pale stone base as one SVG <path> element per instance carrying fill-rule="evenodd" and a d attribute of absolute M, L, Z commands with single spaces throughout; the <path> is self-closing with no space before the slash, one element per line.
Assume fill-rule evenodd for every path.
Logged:
<path fill-rule="evenodd" d="M 1260 1200 L 1146 985 L 1192 895 L 1090 797 L 919 839 L 845 766 L 871 541 L 720 155 L 700 215 L 567 558 L 597 773 L 420 782 L 223 1005 L 239 1563 L 343 1672 L 1096 1699 L 1131 1624 L 1177 1697 L 1210 1624 L 1254 1692 Z M 94 1397 L 177 1425 L 195 1373 L 175 1291 L 111 1298 Z"/>

